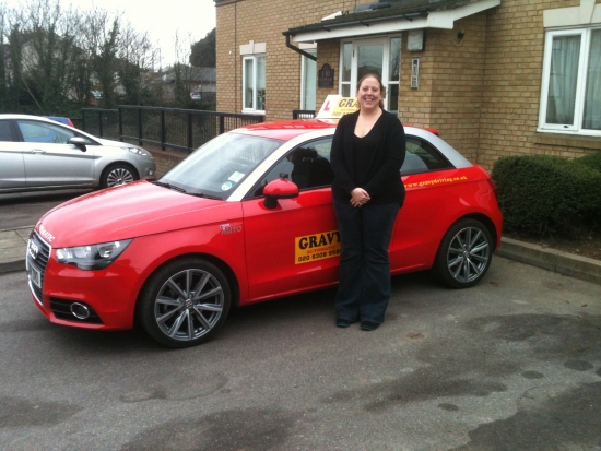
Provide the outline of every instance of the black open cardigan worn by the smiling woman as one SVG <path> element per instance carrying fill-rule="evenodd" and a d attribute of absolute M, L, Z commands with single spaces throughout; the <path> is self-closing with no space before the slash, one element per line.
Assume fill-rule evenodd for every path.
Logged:
<path fill-rule="evenodd" d="M 334 171 L 332 195 L 340 201 L 350 201 L 351 191 L 357 188 L 353 166 L 353 135 L 360 111 L 343 116 L 338 123 L 330 151 L 330 163 Z M 384 134 L 374 149 L 367 167 L 367 182 L 363 187 L 372 200 L 369 203 L 384 204 L 398 202 L 403 204 L 405 190 L 401 180 L 401 166 L 405 156 L 404 129 L 399 118 L 382 111 L 378 118 Z M 374 126 L 375 127 L 375 126 Z"/>

